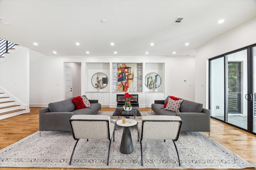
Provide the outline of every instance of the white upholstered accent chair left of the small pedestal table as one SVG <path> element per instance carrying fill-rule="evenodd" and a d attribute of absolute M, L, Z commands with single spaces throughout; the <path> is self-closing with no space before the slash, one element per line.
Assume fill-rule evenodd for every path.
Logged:
<path fill-rule="evenodd" d="M 110 154 L 110 145 L 113 136 L 113 141 L 115 141 L 115 124 L 110 122 L 110 117 L 108 115 L 73 115 L 70 118 L 70 125 L 73 133 L 73 137 L 78 143 L 79 139 L 108 139 L 108 162 Z M 72 157 L 76 149 L 76 144 L 74 146 L 70 165 L 72 162 Z M 107 162 L 107 165 L 108 165 Z"/>

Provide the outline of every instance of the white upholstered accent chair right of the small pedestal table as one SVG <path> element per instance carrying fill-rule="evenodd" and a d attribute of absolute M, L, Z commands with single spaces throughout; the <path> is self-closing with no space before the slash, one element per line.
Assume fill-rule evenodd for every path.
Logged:
<path fill-rule="evenodd" d="M 180 157 L 174 141 L 177 141 L 180 135 L 182 119 L 179 116 L 170 115 L 149 115 L 143 116 L 141 123 L 138 123 L 138 141 L 140 137 L 141 165 L 143 166 L 142 140 L 165 140 L 173 141 L 180 165 Z"/>

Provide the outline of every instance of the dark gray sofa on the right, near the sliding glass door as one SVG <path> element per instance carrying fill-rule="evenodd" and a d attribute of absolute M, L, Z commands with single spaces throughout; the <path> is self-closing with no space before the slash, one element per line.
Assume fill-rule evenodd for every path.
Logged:
<path fill-rule="evenodd" d="M 210 110 L 203 108 L 203 104 L 183 100 L 180 105 L 180 112 L 164 110 L 166 100 L 155 100 L 151 105 L 156 115 L 176 115 L 183 120 L 180 131 L 209 132 L 210 135 Z"/>

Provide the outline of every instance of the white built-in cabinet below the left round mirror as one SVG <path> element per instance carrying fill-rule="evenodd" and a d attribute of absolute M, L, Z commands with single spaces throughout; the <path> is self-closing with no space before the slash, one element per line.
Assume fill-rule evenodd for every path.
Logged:
<path fill-rule="evenodd" d="M 98 100 L 101 106 L 109 106 L 109 92 L 85 92 L 88 99 Z"/>

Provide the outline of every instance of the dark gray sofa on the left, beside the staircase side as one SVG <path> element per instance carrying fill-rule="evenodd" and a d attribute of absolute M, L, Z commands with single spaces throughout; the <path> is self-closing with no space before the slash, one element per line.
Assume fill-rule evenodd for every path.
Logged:
<path fill-rule="evenodd" d="M 72 98 L 48 104 L 39 110 L 39 131 L 72 131 L 69 119 L 72 115 L 95 115 L 100 111 L 98 100 L 89 100 L 90 107 L 76 110 Z"/>

